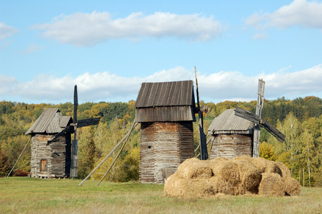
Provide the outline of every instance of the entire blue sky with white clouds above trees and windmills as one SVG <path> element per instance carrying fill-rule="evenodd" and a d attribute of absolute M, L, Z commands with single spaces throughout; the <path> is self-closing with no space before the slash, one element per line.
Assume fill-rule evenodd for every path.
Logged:
<path fill-rule="evenodd" d="M 203 101 L 322 97 L 322 1 L 0 0 L 0 101 L 136 100 L 194 81 Z"/>

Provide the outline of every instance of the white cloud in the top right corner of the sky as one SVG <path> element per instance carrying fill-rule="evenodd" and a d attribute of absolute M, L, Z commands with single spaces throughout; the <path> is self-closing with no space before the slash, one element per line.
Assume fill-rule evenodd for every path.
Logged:
<path fill-rule="evenodd" d="M 322 2 L 294 0 L 291 4 L 282 6 L 273 13 L 253 14 L 246 20 L 247 25 L 258 29 L 273 26 L 286 28 L 288 26 L 303 26 L 322 29 Z"/>

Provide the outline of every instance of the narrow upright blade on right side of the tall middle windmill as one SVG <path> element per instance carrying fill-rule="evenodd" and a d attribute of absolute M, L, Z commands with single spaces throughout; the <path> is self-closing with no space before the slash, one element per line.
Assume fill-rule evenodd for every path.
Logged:
<path fill-rule="evenodd" d="M 208 159 L 207 151 L 207 140 L 206 135 L 203 132 L 203 113 L 201 112 L 200 103 L 199 103 L 199 89 L 198 89 L 198 80 L 197 80 L 197 71 L 196 66 L 194 67 L 195 76 L 196 76 L 196 93 L 197 93 L 197 106 L 198 106 L 198 117 L 199 117 L 199 136 L 200 136 L 200 153 L 201 160 Z"/>

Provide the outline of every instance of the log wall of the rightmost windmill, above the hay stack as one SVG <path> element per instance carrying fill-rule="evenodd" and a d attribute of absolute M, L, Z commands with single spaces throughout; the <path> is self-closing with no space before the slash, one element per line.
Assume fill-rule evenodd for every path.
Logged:
<path fill-rule="evenodd" d="M 225 157 L 232 159 L 236 156 L 252 156 L 251 135 L 218 134 L 211 136 L 210 159 Z"/>

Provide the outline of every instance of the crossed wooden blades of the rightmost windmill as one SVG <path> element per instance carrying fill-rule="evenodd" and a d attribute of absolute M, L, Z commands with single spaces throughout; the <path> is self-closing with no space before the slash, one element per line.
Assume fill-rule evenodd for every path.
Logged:
<path fill-rule="evenodd" d="M 270 123 L 261 118 L 261 110 L 263 108 L 263 96 L 264 96 L 265 81 L 263 79 L 258 80 L 258 100 L 256 106 L 256 113 L 251 113 L 243 108 L 236 108 L 235 115 L 241 118 L 245 118 L 248 121 L 255 123 L 254 133 L 253 133 L 253 157 L 259 157 L 259 136 L 261 129 L 259 125 L 261 124 L 269 133 L 271 133 L 278 141 L 285 140 L 283 133 L 278 131 L 277 128 L 273 127 Z"/>

